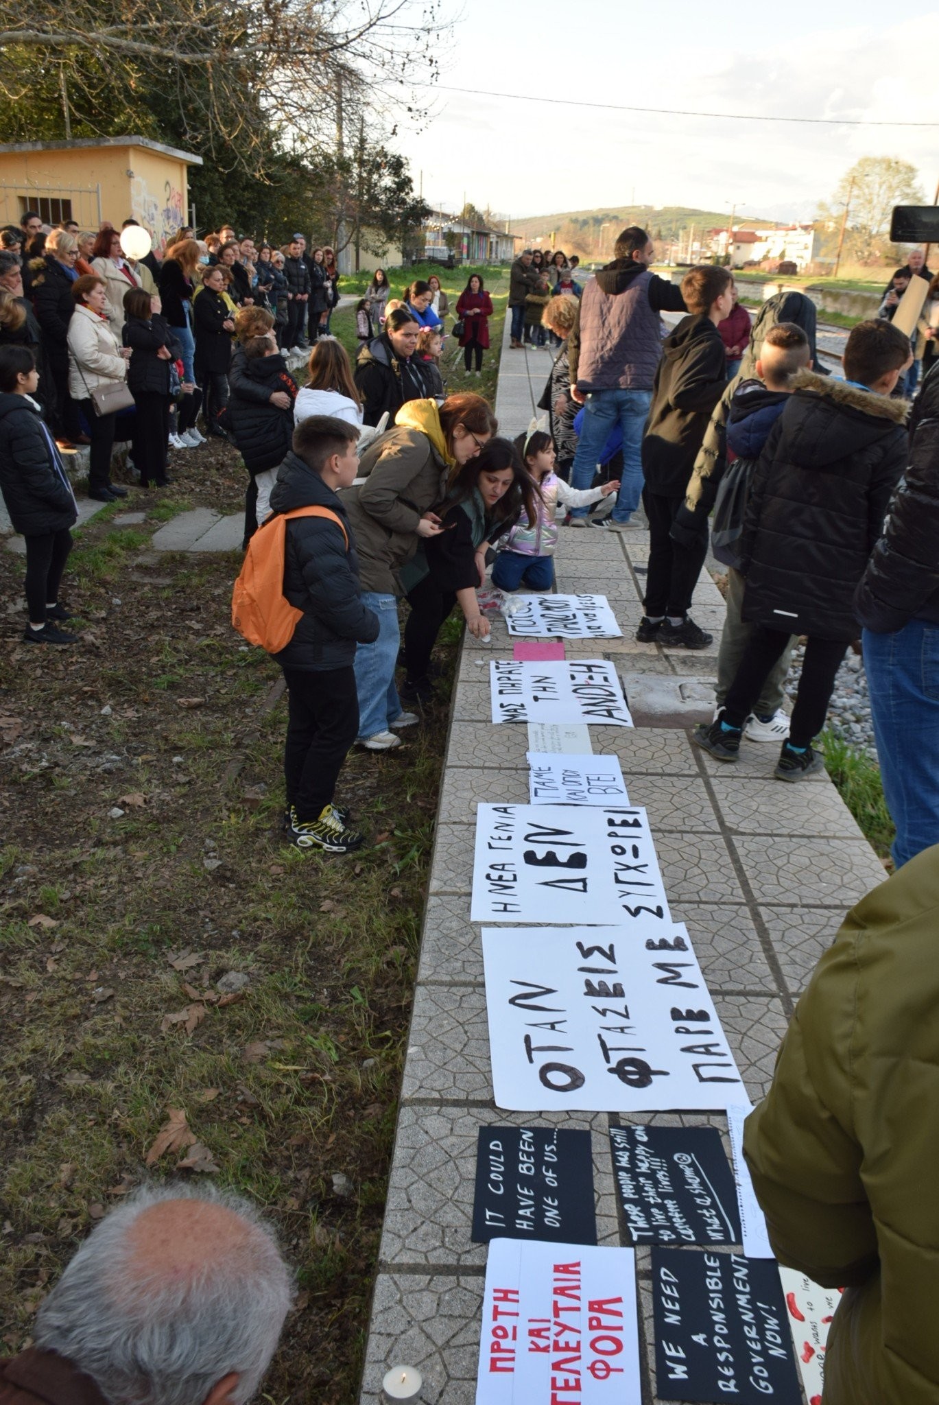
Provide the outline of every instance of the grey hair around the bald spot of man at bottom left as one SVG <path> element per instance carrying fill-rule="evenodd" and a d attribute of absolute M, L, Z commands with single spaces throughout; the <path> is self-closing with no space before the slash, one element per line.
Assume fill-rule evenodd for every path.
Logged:
<path fill-rule="evenodd" d="M 148 1269 L 132 1231 L 173 1200 L 231 1211 L 243 1232 L 222 1236 L 197 1267 Z M 232 1371 L 231 1401 L 243 1405 L 270 1364 L 291 1298 L 276 1236 L 249 1201 L 214 1186 L 148 1186 L 82 1245 L 39 1308 L 34 1340 L 90 1375 L 111 1405 L 202 1405 Z"/>

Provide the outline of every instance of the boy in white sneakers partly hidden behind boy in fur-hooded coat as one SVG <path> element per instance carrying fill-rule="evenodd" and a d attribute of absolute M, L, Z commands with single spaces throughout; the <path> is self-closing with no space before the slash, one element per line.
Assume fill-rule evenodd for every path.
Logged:
<path fill-rule="evenodd" d="M 753 627 L 744 624 L 741 617 L 745 580 L 739 570 L 739 540 L 749 485 L 769 431 L 793 393 L 793 381 L 808 367 L 810 360 L 811 348 L 803 329 L 793 322 L 777 323 L 766 333 L 756 358 L 756 379 L 741 381 L 728 407 L 727 448 L 735 458 L 717 489 L 711 523 L 711 551 L 727 566 L 727 615 L 717 653 L 718 708 L 724 705 L 727 690 L 753 632 Z M 744 735 L 751 742 L 783 742 L 789 736 L 783 684 L 794 645 L 793 636 L 768 674 L 753 715 L 746 719 Z"/>

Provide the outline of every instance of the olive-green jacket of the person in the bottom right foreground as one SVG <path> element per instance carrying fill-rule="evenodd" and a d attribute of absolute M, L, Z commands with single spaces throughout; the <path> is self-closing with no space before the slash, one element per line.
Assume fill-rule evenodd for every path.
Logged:
<path fill-rule="evenodd" d="M 825 1405 L 939 1402 L 939 846 L 848 915 L 744 1151 L 779 1259 L 848 1288 Z"/>

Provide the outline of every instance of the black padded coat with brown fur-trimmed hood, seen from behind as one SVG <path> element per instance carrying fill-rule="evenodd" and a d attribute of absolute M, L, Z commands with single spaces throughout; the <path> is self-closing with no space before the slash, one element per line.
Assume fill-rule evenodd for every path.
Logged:
<path fill-rule="evenodd" d="M 907 466 L 907 402 L 800 371 L 753 473 L 741 535 L 748 624 L 855 639 L 853 596 Z"/>

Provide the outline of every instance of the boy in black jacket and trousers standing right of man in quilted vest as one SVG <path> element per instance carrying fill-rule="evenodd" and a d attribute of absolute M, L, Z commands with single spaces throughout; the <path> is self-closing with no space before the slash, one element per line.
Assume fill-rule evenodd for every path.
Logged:
<path fill-rule="evenodd" d="M 727 388 L 724 343 L 717 323 L 732 306 L 732 280 L 727 268 L 692 268 L 682 280 L 682 296 L 690 316 L 682 318 L 665 339 L 655 372 L 652 407 L 642 438 L 642 506 L 649 520 L 649 563 L 645 577 L 645 614 L 635 631 L 640 643 L 706 649 L 706 634 L 687 611 L 704 556 L 707 534 L 693 547 L 672 541 L 675 514 L 711 410 Z"/>

